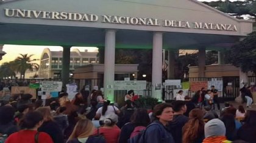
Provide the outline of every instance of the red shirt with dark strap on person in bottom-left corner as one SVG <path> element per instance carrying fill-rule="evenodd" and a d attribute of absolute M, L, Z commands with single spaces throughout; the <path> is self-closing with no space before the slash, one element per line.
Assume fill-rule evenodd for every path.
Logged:
<path fill-rule="evenodd" d="M 35 143 L 35 130 L 20 130 L 10 135 L 5 143 Z M 52 138 L 44 132 L 40 132 L 38 136 L 38 143 L 53 143 Z"/>

